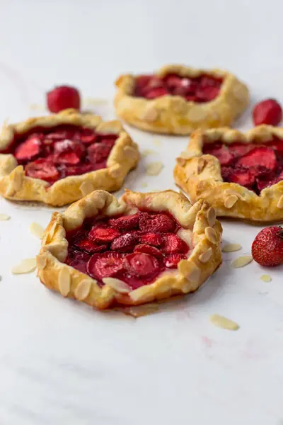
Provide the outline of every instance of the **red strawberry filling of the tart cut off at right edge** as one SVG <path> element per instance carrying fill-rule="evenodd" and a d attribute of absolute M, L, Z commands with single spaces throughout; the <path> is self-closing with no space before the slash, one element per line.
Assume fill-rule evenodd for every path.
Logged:
<path fill-rule="evenodd" d="M 265 145 L 214 142 L 204 144 L 203 152 L 219 159 L 224 181 L 255 193 L 283 180 L 283 140 L 275 138 Z"/>

